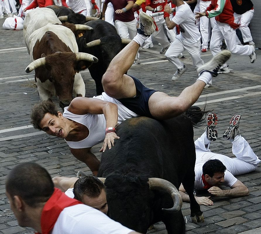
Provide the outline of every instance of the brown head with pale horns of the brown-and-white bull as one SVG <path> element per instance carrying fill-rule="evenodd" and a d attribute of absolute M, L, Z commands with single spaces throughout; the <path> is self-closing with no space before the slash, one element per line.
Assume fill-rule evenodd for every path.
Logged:
<path fill-rule="evenodd" d="M 97 61 L 96 57 L 86 53 L 56 52 L 47 56 L 42 54 L 41 58 L 30 63 L 25 71 L 29 73 L 36 69 L 35 75 L 42 82 L 49 79 L 59 97 L 59 105 L 64 108 L 73 99 L 75 74 Z M 76 95 L 81 96 L 82 94 Z"/>

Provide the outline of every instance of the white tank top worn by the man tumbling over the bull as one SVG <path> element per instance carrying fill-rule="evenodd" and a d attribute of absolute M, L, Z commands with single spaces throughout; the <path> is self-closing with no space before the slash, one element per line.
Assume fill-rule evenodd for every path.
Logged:
<path fill-rule="evenodd" d="M 93 98 L 101 99 L 103 101 L 110 101 L 112 103 L 117 104 L 118 124 L 122 123 L 126 119 L 138 117 L 136 113 L 130 111 L 127 107 L 123 106 L 121 102 L 119 102 L 118 100 L 112 97 L 109 97 L 104 92 L 102 93 L 102 95 Z M 89 135 L 81 141 L 66 141 L 66 143 L 69 145 L 70 148 L 72 149 L 90 148 L 96 144 L 103 142 L 105 137 L 105 128 L 106 128 L 106 120 L 104 114 L 76 115 L 68 111 L 67 108 L 68 107 L 64 108 L 63 116 L 77 123 L 83 124 L 89 130 Z"/>

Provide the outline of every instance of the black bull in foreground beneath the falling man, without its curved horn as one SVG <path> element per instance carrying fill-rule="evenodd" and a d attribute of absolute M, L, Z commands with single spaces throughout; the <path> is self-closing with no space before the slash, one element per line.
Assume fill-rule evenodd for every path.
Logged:
<path fill-rule="evenodd" d="M 117 135 L 114 147 L 102 154 L 98 173 L 106 178 L 109 216 L 141 233 L 158 221 L 169 234 L 184 233 L 181 210 L 162 210 L 173 207 L 170 195 L 149 189 L 148 178 L 157 177 L 177 189 L 182 183 L 190 196 L 192 220 L 203 222 L 193 195 L 196 156 L 190 119 L 184 114 L 165 121 L 132 118 L 117 127 Z"/>

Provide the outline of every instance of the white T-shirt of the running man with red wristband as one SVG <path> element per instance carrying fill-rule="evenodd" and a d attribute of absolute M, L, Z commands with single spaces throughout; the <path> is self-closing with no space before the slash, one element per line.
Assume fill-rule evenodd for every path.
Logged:
<path fill-rule="evenodd" d="M 195 44 L 200 40 L 201 35 L 195 24 L 196 20 L 188 4 L 184 3 L 176 7 L 176 14 L 172 21 L 180 26 L 180 34 L 176 35 L 177 39 L 189 44 Z M 182 29 L 185 32 L 182 32 Z"/>

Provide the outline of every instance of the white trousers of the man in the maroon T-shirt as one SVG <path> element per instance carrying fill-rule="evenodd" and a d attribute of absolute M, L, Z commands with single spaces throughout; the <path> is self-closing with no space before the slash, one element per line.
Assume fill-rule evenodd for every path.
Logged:
<path fill-rule="evenodd" d="M 121 38 L 133 39 L 137 34 L 136 19 L 130 22 L 115 20 L 114 24 Z"/>

